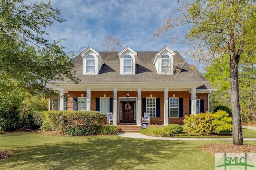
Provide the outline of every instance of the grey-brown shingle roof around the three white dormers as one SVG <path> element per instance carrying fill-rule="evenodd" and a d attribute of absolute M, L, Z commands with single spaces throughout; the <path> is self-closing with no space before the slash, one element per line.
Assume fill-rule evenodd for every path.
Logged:
<path fill-rule="evenodd" d="M 136 51 L 137 52 L 137 51 Z M 120 75 L 120 60 L 118 52 L 98 52 L 104 61 L 98 75 L 82 74 L 82 56 L 78 55 L 75 59 L 76 77 L 82 82 L 206 82 L 204 76 L 196 69 L 191 69 L 184 58 L 175 51 L 174 65 L 182 70 L 174 75 L 158 75 L 153 64 L 158 51 L 139 51 L 137 52 L 137 64 L 135 75 Z M 205 85 L 207 89 L 214 89 L 210 83 Z M 200 87 L 201 88 L 201 87 Z"/>

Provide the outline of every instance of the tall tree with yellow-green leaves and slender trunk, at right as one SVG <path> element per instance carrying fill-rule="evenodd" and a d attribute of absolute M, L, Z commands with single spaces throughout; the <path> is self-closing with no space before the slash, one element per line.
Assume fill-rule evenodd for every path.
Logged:
<path fill-rule="evenodd" d="M 238 63 L 241 55 L 255 57 L 256 3 L 255 0 L 184 0 L 180 6 L 164 19 L 155 37 L 168 37 L 187 27 L 188 32 L 181 42 L 195 47 L 193 57 L 209 60 L 225 51 L 230 58 L 230 87 L 233 116 L 233 144 L 242 145 L 242 125 L 239 105 Z M 180 32 L 180 31 L 179 31 Z M 173 36 L 171 37 L 173 38 Z M 176 41 L 176 40 L 171 40 Z"/>

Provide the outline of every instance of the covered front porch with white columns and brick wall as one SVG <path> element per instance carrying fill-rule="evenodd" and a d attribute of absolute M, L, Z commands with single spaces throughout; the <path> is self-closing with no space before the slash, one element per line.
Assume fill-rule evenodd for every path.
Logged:
<path fill-rule="evenodd" d="M 63 84 L 56 90 L 60 92 L 59 110 L 112 112 L 113 125 L 133 123 L 136 126 L 141 126 L 144 112 L 150 112 L 151 124 L 166 126 L 169 123 L 182 124 L 185 115 L 196 114 L 197 96 L 203 96 L 208 103 L 210 92 L 196 89 L 203 83 L 174 83 L 172 87 L 170 83 L 129 86 L 124 83 L 118 86 L 101 84 L 86 88 L 82 84 Z M 178 114 L 173 117 L 170 117 L 170 99 L 177 99 L 180 104 Z M 49 100 L 49 110 L 53 110 L 52 105 Z"/>

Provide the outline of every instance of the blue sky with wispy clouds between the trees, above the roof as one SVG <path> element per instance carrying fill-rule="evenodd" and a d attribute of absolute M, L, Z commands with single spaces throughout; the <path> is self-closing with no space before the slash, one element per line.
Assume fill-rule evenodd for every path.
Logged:
<path fill-rule="evenodd" d="M 179 45 L 168 41 L 154 40 L 152 36 L 169 16 L 176 3 L 169 0 L 52 0 L 54 8 L 62 11 L 64 23 L 55 23 L 47 29 L 48 39 L 67 38 L 62 45 L 78 51 L 92 47 L 102 51 L 106 36 L 120 38 L 123 48 L 134 51 L 160 51 L 168 46 L 181 51 Z M 176 1 L 175 1 L 176 2 Z"/>

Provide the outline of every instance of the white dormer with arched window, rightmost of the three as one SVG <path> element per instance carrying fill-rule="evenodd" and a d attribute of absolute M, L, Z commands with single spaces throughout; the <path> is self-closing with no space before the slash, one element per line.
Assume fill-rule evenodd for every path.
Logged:
<path fill-rule="evenodd" d="M 164 47 L 156 53 L 153 63 L 156 67 L 157 74 L 173 74 L 174 55 L 174 51 L 168 47 Z"/>

